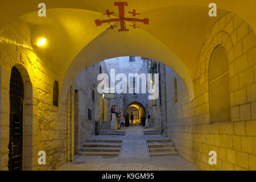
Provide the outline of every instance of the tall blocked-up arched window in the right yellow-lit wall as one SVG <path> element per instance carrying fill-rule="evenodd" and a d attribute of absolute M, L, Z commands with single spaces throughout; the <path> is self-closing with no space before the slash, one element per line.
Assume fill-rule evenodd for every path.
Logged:
<path fill-rule="evenodd" d="M 230 121 L 229 63 L 226 49 L 214 49 L 209 65 L 210 121 Z"/>

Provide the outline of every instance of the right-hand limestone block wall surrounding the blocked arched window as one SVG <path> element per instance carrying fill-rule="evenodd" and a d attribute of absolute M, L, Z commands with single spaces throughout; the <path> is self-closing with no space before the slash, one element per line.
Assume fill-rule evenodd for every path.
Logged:
<path fill-rule="evenodd" d="M 231 121 L 210 123 L 208 69 L 212 52 L 225 47 L 229 60 Z M 222 16 L 203 43 L 195 80 L 195 99 L 188 100 L 183 80 L 167 68 L 168 136 L 177 151 L 203 170 L 256 170 L 256 36 L 243 19 Z M 174 78 L 178 101 L 174 102 Z M 217 164 L 209 165 L 209 151 Z"/>

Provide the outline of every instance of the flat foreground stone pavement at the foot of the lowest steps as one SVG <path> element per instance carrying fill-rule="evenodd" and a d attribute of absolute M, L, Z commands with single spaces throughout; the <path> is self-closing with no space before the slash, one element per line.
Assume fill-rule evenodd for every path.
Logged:
<path fill-rule="evenodd" d="M 197 171 L 197 167 L 180 156 L 158 156 L 151 159 L 107 159 L 79 156 L 79 164 L 67 163 L 61 171 Z"/>

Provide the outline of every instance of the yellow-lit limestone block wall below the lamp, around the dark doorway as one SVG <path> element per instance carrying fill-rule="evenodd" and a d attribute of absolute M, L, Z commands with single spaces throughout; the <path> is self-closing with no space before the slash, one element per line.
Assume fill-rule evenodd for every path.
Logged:
<path fill-rule="evenodd" d="M 34 46 L 35 32 L 15 22 L 0 31 L 1 121 L 0 169 L 9 160 L 11 68 L 19 69 L 24 83 L 23 169 L 52 170 L 67 162 L 67 104 L 52 105 L 54 81 L 60 81 L 43 49 Z M 59 85 L 60 90 L 60 85 Z M 39 166 L 38 152 L 46 151 L 46 165 Z"/>

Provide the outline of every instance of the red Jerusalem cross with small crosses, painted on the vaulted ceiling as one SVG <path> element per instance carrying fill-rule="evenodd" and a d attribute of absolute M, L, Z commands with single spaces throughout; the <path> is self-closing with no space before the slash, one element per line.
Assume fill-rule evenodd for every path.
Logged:
<path fill-rule="evenodd" d="M 144 18 L 144 19 L 139 19 L 139 18 L 125 18 L 125 6 L 127 6 L 127 2 L 114 2 L 114 6 L 118 6 L 118 12 L 119 12 L 119 18 L 110 18 L 110 19 L 104 19 L 104 20 L 100 20 L 100 19 L 96 19 L 94 20 L 94 22 L 96 23 L 96 26 L 101 26 L 102 23 L 109 23 L 110 22 L 120 22 L 120 29 L 118 30 L 119 32 L 121 31 L 129 31 L 129 29 L 126 28 L 126 21 L 127 22 L 133 22 L 134 25 L 132 27 L 136 28 L 135 26 L 135 22 L 142 22 L 144 24 L 149 24 L 149 19 L 148 18 Z M 133 10 L 133 12 L 128 12 L 130 14 L 133 14 L 133 16 L 139 15 L 138 13 L 136 13 L 136 10 Z M 110 16 L 109 10 L 106 10 L 106 14 L 103 15 L 108 15 Z M 137 27 L 139 28 L 139 27 Z M 113 26 L 110 26 L 107 29 L 113 29 Z"/>

